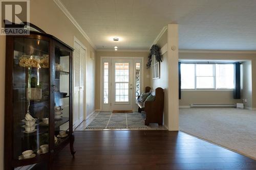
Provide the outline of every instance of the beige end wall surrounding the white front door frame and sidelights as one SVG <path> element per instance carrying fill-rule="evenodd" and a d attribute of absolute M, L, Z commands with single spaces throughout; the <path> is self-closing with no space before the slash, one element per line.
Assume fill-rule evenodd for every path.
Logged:
<path fill-rule="evenodd" d="M 143 90 L 146 86 L 150 86 L 150 70 L 146 69 L 148 52 L 96 52 L 96 84 L 95 84 L 95 108 L 100 109 L 100 57 L 143 57 L 144 58 L 144 69 L 143 69 Z"/>

